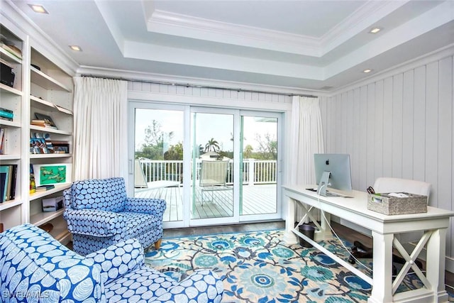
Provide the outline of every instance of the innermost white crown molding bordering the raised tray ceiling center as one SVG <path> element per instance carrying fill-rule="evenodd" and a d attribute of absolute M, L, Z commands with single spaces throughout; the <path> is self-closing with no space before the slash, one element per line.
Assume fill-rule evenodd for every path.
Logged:
<path fill-rule="evenodd" d="M 368 1 L 321 38 L 240 26 L 161 10 L 148 14 L 150 17 L 146 22 L 150 32 L 322 57 L 358 33 L 368 30 L 408 1 Z"/>

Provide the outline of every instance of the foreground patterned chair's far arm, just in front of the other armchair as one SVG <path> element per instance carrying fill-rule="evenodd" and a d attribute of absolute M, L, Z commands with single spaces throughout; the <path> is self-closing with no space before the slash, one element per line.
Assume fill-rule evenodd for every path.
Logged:
<path fill-rule="evenodd" d="M 85 258 L 101 265 L 104 285 L 144 265 L 143 248 L 140 242 L 131 238 L 86 255 Z"/>

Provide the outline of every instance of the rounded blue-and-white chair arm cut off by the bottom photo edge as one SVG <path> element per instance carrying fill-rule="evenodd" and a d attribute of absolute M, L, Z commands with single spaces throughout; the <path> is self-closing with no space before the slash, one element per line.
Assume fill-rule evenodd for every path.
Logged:
<path fill-rule="evenodd" d="M 186 290 L 201 290 L 199 293 L 191 292 L 188 297 Z M 170 287 L 165 294 L 154 299 L 153 303 L 160 302 L 208 302 L 218 303 L 222 300 L 224 288 L 222 280 L 211 270 L 196 270 L 192 275 Z M 199 301 L 199 296 L 200 301 Z"/>

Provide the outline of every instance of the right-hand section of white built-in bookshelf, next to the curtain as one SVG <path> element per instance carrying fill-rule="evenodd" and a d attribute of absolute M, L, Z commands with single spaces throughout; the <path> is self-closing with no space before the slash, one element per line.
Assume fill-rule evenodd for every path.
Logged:
<path fill-rule="evenodd" d="M 54 165 L 68 165 L 68 167 L 72 165 L 72 77 L 33 47 L 31 48 L 30 72 L 30 138 L 38 137 L 48 145 L 38 152 L 31 149 L 29 159 L 31 166 L 34 167 L 35 180 L 37 182 L 40 180 L 41 184 L 45 184 L 42 178 L 44 175 L 41 178 L 38 177 L 41 173 L 40 170 L 49 171 Z M 39 120 L 40 116 L 48 117 L 55 126 L 32 125 L 31 121 Z M 52 142 L 67 143 L 67 153 L 57 153 Z M 39 170 L 35 167 L 41 168 Z M 71 170 L 68 171 L 68 173 L 70 172 Z M 71 175 L 65 175 L 65 177 L 66 180 L 56 184 L 54 189 L 34 192 L 29 196 L 30 222 L 37 226 L 52 224 L 54 228 L 50 234 L 63 243 L 70 240 L 70 233 L 62 218 L 62 210 L 44 212 L 42 200 L 62 195 L 62 191 L 70 187 L 72 182 Z M 50 182 L 53 181 L 50 180 Z M 40 184 L 36 184 L 36 186 L 38 185 Z"/>

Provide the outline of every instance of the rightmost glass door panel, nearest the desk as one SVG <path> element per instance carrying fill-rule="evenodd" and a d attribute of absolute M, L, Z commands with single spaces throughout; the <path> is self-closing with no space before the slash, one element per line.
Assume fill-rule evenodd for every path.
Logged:
<path fill-rule="evenodd" d="M 277 118 L 242 116 L 240 215 L 277 213 Z"/>

